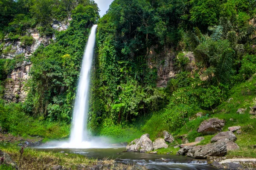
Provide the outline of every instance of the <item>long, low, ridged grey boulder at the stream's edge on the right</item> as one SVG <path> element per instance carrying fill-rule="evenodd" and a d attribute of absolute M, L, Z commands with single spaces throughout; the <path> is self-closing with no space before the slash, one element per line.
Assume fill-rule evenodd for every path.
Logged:
<path fill-rule="evenodd" d="M 202 146 L 192 147 L 186 156 L 196 159 L 205 159 L 207 156 L 225 156 L 227 154 L 227 146 L 225 142 L 216 142 Z"/>

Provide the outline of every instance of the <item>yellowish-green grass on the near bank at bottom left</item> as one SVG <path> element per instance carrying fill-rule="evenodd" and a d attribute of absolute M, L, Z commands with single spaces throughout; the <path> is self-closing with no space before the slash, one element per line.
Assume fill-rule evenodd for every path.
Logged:
<path fill-rule="evenodd" d="M 16 144 L 0 143 L 0 150 L 8 153 L 13 161 L 15 161 L 20 170 L 42 170 L 45 165 L 62 165 L 65 168 L 77 169 L 78 164 L 91 166 L 97 163 L 96 159 L 88 159 L 85 156 L 62 153 L 54 153 L 51 151 L 39 151 L 32 148 L 24 148 L 24 153 L 20 156 L 20 147 Z"/>

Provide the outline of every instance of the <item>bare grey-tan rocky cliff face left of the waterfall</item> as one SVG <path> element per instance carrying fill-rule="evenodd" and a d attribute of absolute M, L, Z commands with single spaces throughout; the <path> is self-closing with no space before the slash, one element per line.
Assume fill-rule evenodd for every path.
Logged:
<path fill-rule="evenodd" d="M 64 23 L 54 21 L 52 28 L 57 31 L 65 31 L 69 26 L 71 18 Z M 29 72 L 32 67 L 30 62 L 30 56 L 37 50 L 37 48 L 43 44 L 49 45 L 55 40 L 55 35 L 41 36 L 37 29 L 26 30 L 26 35 L 33 37 L 32 45 L 23 45 L 21 40 L 11 41 L 5 39 L 2 51 L 5 51 L 0 55 L 0 59 L 14 59 L 17 55 L 23 54 L 24 60 L 22 63 L 17 63 L 15 69 L 6 77 L 4 81 L 4 94 L 3 98 L 8 102 L 24 102 L 27 96 L 26 82 L 29 79 Z M 8 50 L 7 50 L 8 49 Z"/>

